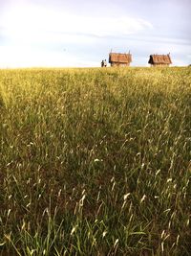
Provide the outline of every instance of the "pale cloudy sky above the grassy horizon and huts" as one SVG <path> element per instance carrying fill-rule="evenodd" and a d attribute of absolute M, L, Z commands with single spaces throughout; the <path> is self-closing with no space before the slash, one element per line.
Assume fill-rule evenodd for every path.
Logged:
<path fill-rule="evenodd" d="M 0 68 L 96 67 L 111 51 L 191 64 L 191 0 L 0 0 Z"/>

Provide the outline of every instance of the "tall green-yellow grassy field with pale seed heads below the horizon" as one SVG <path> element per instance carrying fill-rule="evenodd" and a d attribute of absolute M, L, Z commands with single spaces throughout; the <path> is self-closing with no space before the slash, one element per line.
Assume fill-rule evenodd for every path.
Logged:
<path fill-rule="evenodd" d="M 191 69 L 0 70 L 0 255 L 190 255 Z"/>

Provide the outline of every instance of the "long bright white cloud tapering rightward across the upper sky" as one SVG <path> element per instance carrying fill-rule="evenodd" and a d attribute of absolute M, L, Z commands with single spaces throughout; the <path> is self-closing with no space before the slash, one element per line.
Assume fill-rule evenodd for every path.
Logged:
<path fill-rule="evenodd" d="M 134 17 L 91 17 L 54 12 L 35 6 L 14 6 L 1 18 L 7 33 L 15 39 L 32 40 L 45 32 L 74 35 L 132 35 L 152 29 L 152 24 Z"/>

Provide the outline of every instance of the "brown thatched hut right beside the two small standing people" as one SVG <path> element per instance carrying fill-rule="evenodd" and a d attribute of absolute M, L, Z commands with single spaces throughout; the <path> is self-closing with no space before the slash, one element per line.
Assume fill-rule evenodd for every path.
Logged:
<path fill-rule="evenodd" d="M 130 62 L 132 62 L 132 55 L 130 53 L 110 53 L 109 55 L 109 63 L 111 63 L 111 66 L 129 66 Z"/>

